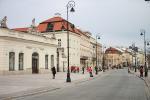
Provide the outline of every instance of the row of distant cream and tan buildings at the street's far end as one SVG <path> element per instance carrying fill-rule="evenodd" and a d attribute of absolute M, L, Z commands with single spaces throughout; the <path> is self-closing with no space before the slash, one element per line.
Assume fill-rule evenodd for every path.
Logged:
<path fill-rule="evenodd" d="M 140 66 L 144 65 L 144 54 L 142 52 L 133 52 L 130 49 L 108 48 L 105 52 L 106 66 Z"/>

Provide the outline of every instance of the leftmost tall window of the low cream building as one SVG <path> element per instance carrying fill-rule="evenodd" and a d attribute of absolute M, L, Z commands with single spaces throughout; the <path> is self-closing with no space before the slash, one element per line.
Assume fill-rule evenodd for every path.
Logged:
<path fill-rule="evenodd" d="M 15 70 L 15 53 L 9 52 L 9 71 Z"/>

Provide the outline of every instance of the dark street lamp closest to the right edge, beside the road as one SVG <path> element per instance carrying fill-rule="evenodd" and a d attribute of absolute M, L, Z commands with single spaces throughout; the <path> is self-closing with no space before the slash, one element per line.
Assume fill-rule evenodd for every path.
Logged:
<path fill-rule="evenodd" d="M 145 61 L 145 63 L 144 63 L 144 69 L 145 69 L 145 77 L 147 77 L 148 76 L 148 68 L 147 68 L 147 65 L 146 65 L 146 40 L 145 40 L 145 30 L 141 30 L 141 34 L 140 34 L 141 36 L 143 36 L 144 37 L 144 61 Z M 149 44 L 149 43 L 148 43 Z"/>

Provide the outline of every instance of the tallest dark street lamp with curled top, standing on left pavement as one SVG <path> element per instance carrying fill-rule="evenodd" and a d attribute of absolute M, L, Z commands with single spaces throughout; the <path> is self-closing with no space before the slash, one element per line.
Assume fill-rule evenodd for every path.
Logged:
<path fill-rule="evenodd" d="M 74 1 L 69 1 L 67 4 L 67 50 L 68 50 L 68 69 L 67 69 L 67 79 L 66 82 L 71 82 L 70 78 L 70 69 L 69 69 L 69 22 L 68 22 L 68 10 L 70 8 L 70 12 L 75 12 L 74 7 L 75 2 Z"/>

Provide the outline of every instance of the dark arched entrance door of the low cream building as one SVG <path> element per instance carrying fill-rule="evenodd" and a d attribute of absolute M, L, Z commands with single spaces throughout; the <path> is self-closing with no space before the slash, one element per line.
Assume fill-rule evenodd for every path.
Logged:
<path fill-rule="evenodd" d="M 39 72 L 38 67 L 39 67 L 39 55 L 38 53 L 33 53 L 32 54 L 32 73 L 38 73 Z"/>

